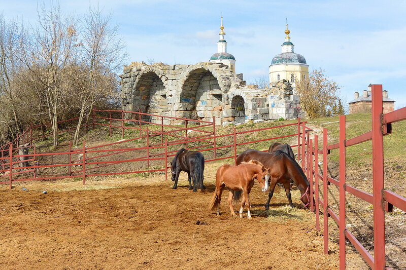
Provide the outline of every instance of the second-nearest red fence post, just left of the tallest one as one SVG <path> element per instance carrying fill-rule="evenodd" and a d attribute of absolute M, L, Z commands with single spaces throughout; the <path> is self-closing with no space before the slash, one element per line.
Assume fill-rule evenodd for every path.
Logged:
<path fill-rule="evenodd" d="M 340 115 L 340 270 L 346 268 L 346 116 Z"/>

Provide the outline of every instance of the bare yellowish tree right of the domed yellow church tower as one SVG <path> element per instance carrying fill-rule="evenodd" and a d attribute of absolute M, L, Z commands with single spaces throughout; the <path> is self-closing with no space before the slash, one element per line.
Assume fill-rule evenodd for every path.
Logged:
<path fill-rule="evenodd" d="M 296 91 L 300 104 L 310 119 L 329 116 L 332 106 L 337 100 L 340 89 L 336 82 L 328 80 L 322 69 L 314 69 L 309 76 L 296 80 Z"/>

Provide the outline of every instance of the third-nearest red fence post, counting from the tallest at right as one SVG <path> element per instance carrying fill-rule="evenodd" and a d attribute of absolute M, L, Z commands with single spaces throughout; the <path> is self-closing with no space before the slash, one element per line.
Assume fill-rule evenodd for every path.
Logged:
<path fill-rule="evenodd" d="M 323 129 L 323 237 L 324 253 L 328 254 L 328 160 L 327 129 Z"/>

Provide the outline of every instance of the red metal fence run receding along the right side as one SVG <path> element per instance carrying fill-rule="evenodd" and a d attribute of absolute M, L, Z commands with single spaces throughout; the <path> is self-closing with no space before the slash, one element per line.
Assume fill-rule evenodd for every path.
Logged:
<path fill-rule="evenodd" d="M 367 264 L 374 270 L 390 269 L 386 267 L 385 260 L 385 211 L 391 211 L 393 206 L 406 211 L 406 198 L 397 195 L 395 192 L 384 188 L 384 147 L 383 136 L 392 132 L 392 123 L 406 120 L 406 107 L 383 114 L 382 106 L 382 85 L 372 86 L 372 130 L 351 139 L 346 139 L 346 117 L 340 117 L 340 139 L 335 144 L 328 144 L 327 129 L 323 129 L 322 148 L 319 149 L 318 135 L 314 139 L 305 139 L 309 144 L 306 150 L 302 148 L 302 167 L 306 171 L 312 185 L 311 192 L 316 200 L 316 228 L 320 230 L 319 208 L 323 212 L 323 235 L 324 235 L 324 253 L 328 254 L 328 217 L 339 226 L 339 245 L 340 245 L 340 269 L 346 268 L 346 240 L 357 249 Z M 305 136 L 302 133 L 302 136 Z M 373 193 L 370 194 L 346 183 L 346 147 L 356 145 L 368 140 L 372 140 L 373 146 Z M 404 147 L 404 146 L 403 146 Z M 328 154 L 330 150 L 338 149 L 340 155 L 340 175 L 339 180 L 328 176 Z M 323 155 L 323 175 L 319 173 L 318 162 L 319 154 Z M 313 162 L 314 160 L 314 162 Z M 313 179 L 315 183 L 313 183 Z M 337 215 L 328 203 L 329 184 L 339 187 L 339 215 Z M 313 184 L 316 190 L 313 189 Z M 319 185 L 323 185 L 322 198 L 319 197 Z M 354 237 L 346 224 L 346 193 L 352 194 L 373 205 L 374 219 L 374 257 L 366 250 L 363 245 Z M 311 196 L 313 201 L 313 196 Z M 311 210 L 314 211 L 313 202 Z"/>

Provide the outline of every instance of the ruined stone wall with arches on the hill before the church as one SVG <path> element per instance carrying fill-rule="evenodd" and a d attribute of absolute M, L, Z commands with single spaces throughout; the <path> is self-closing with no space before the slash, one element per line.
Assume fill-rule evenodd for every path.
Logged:
<path fill-rule="evenodd" d="M 297 118 L 298 97 L 288 82 L 270 89 L 247 86 L 243 74 L 227 65 L 201 62 L 195 65 L 165 65 L 132 62 L 121 78 L 123 110 L 141 111 L 168 117 L 213 121 L 216 125 L 254 120 Z M 131 119 L 130 113 L 125 117 Z M 145 121 L 161 118 L 145 115 Z M 164 124 L 181 124 L 164 119 Z"/>

